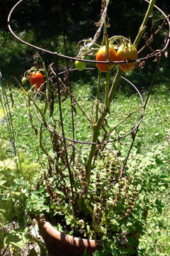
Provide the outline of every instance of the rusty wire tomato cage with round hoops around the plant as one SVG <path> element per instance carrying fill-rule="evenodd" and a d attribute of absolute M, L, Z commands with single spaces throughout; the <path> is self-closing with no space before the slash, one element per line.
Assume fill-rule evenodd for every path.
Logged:
<path fill-rule="evenodd" d="M 149 3 L 148 0 L 144 0 L 145 2 Z M 89 59 L 81 59 L 81 58 L 77 58 L 77 57 L 72 57 L 72 56 L 68 56 L 68 55 L 63 55 L 63 54 L 60 54 L 60 53 L 57 53 L 57 52 L 53 52 L 53 51 L 50 51 L 50 50 L 47 50 L 47 49 L 44 49 L 44 48 L 40 48 L 38 46 L 34 46 L 33 44 L 30 44 L 26 41 L 23 41 L 21 38 L 19 38 L 16 33 L 13 32 L 12 28 L 11 28 L 11 15 L 13 14 L 13 11 L 16 9 L 16 7 L 21 4 L 23 2 L 23 0 L 20 0 L 18 1 L 14 6 L 13 8 L 11 9 L 10 13 L 8 14 L 8 29 L 9 31 L 11 32 L 11 34 L 14 36 L 14 38 L 16 38 L 18 41 L 20 41 L 21 43 L 24 43 L 26 44 L 26 46 L 29 46 L 29 47 L 32 47 L 34 48 L 35 50 L 40 50 L 42 52 L 45 52 L 47 54 L 50 54 L 50 55 L 54 55 L 55 58 L 64 58 L 65 60 L 79 60 L 79 61 L 82 61 L 82 62 L 86 62 L 86 63 L 106 63 L 106 64 L 111 64 L 111 63 L 114 63 L 114 64 L 118 64 L 118 63 L 130 63 L 130 62 L 138 62 L 138 63 L 142 63 L 142 61 L 145 61 L 149 58 L 157 58 L 157 67 L 156 69 L 154 70 L 154 74 L 153 74 L 153 78 L 152 78 L 152 82 L 151 82 L 151 85 L 149 87 L 149 91 L 148 91 L 148 94 L 147 94 L 147 98 L 144 102 L 144 100 L 142 99 L 142 95 L 140 93 L 140 91 L 137 89 L 137 87 L 132 83 L 130 82 L 130 80 L 128 80 L 127 78 L 124 78 L 123 76 L 121 77 L 123 80 L 125 80 L 126 82 L 128 82 L 134 89 L 135 91 L 137 92 L 138 96 L 140 97 L 140 102 L 141 102 L 141 107 L 140 107 L 140 110 L 141 110 L 141 114 L 140 114 L 140 118 L 139 120 L 137 121 L 137 124 L 135 124 L 134 127 L 132 127 L 132 129 L 130 129 L 129 132 L 127 132 L 126 134 L 123 134 L 123 136 L 120 136 L 118 134 L 118 137 L 116 137 L 115 139 L 106 139 L 106 141 L 101 141 L 101 142 L 92 142 L 92 141 L 82 141 L 82 140 L 79 140 L 79 139 L 75 139 L 74 137 L 74 133 L 73 133 L 73 136 L 72 138 L 69 138 L 67 136 L 65 136 L 64 134 L 64 126 L 63 126 L 63 116 L 62 116 L 62 102 L 61 102 L 61 95 L 60 95 L 60 92 L 59 92 L 59 108 L 60 108 L 60 121 L 61 121 L 61 124 L 62 124 L 62 132 L 60 134 L 57 134 L 56 130 L 53 128 L 53 127 L 50 127 L 48 124 L 46 124 L 43 120 L 42 120 L 42 117 L 40 117 L 40 113 L 38 113 L 36 107 L 35 107 L 35 114 L 36 116 L 38 117 L 39 121 L 41 124 L 43 124 L 45 126 L 45 128 L 51 132 L 52 134 L 56 135 L 62 139 L 64 139 L 64 143 L 66 141 L 68 142 L 71 142 L 72 144 L 87 144 L 87 145 L 93 145 L 93 144 L 96 144 L 96 145 L 100 145 L 100 144 L 108 144 L 108 143 L 112 143 L 112 142 L 118 142 L 120 141 L 120 139 L 123 139 L 125 137 L 128 137 L 128 135 L 132 134 L 132 143 L 130 144 L 130 149 L 128 151 L 128 156 L 126 157 L 125 159 L 125 163 L 123 164 L 123 168 L 120 170 L 120 175 L 118 176 L 118 178 L 120 178 L 120 176 L 123 174 L 123 171 L 125 169 L 125 166 L 127 164 L 127 161 L 128 161 L 128 157 L 130 155 L 130 151 L 132 149 L 132 146 L 135 142 L 135 137 L 136 137 L 136 134 L 137 134 L 137 131 L 140 127 L 140 124 L 142 122 L 142 119 L 144 117 L 144 114 L 145 114 L 145 108 L 147 106 L 147 102 L 148 102 L 148 99 L 149 99 L 149 95 L 152 91 L 152 87 L 154 85 L 154 80 L 155 80 L 155 77 L 157 75 L 157 71 L 159 70 L 159 63 L 161 61 L 161 57 L 162 55 L 167 51 L 167 48 L 169 46 L 169 40 L 170 40 L 170 21 L 169 21 L 169 16 L 166 16 L 166 14 L 164 14 L 164 11 L 162 11 L 161 9 L 159 9 L 158 6 L 154 5 L 154 8 L 157 9 L 163 16 L 164 16 L 164 21 L 166 21 L 168 23 L 168 27 L 169 27 L 169 32 L 167 33 L 167 36 L 165 38 L 165 41 L 164 41 L 164 47 L 162 48 L 162 50 L 155 50 L 154 52 L 148 54 L 147 56 L 143 57 L 143 58 L 138 58 L 137 60 L 122 60 L 122 61 L 96 61 L 96 60 L 89 60 Z M 56 68 L 57 68 L 57 64 L 56 64 Z M 77 69 L 70 69 L 69 68 L 69 65 L 67 65 L 67 70 L 64 70 L 63 72 L 60 72 L 57 74 L 55 74 L 54 72 L 54 75 L 52 76 L 52 78 L 57 78 L 57 82 L 59 82 L 60 78 L 62 75 L 66 75 L 67 73 L 72 73 L 74 72 L 75 70 Z M 84 70 L 95 70 L 95 68 L 85 68 Z M 49 78 L 52 79 L 52 78 Z M 59 85 L 57 85 L 59 87 Z M 66 88 L 65 88 L 66 89 Z M 58 90 L 60 91 L 60 90 Z M 69 92 L 69 96 L 74 98 L 74 95 L 72 94 L 72 91 L 68 89 L 68 92 Z M 38 96 L 38 93 L 35 94 L 35 98 Z M 75 99 L 75 98 L 74 98 Z M 84 111 L 82 110 L 82 108 L 79 106 L 79 103 L 76 101 L 76 104 L 77 106 L 80 108 L 81 112 L 83 112 L 83 114 L 86 114 L 84 113 Z M 72 129 L 74 130 L 74 118 L 73 118 L 73 114 L 74 114 L 74 108 L 72 107 Z M 128 117 L 130 117 L 130 114 L 128 115 Z M 128 118 L 127 117 L 127 118 Z M 125 118 L 126 119 L 126 118 Z M 123 120 L 122 122 L 120 122 L 120 124 L 123 124 L 125 120 Z M 118 125 L 120 125 L 118 124 Z M 111 186 L 113 185 L 115 182 L 117 181 L 117 179 L 115 181 L 113 181 L 113 183 L 109 184 L 108 186 Z M 108 187 L 107 186 L 107 187 Z M 91 192 L 94 192 L 94 191 L 88 191 L 88 193 L 91 193 Z"/>

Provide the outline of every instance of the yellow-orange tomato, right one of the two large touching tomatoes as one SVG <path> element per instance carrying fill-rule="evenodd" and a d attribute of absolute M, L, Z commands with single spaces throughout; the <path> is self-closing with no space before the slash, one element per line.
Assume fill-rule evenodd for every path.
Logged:
<path fill-rule="evenodd" d="M 117 50 L 117 60 L 132 60 L 137 59 L 137 49 L 131 43 L 128 46 L 120 45 Z M 130 71 L 135 68 L 135 62 L 131 63 L 119 63 L 119 68 L 125 71 Z"/>

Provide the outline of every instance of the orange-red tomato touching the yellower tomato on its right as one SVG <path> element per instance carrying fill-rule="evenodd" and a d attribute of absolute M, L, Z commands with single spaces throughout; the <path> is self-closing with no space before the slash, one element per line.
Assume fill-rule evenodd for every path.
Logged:
<path fill-rule="evenodd" d="M 117 54 L 115 51 L 114 46 L 109 47 L 109 61 L 115 61 L 117 58 Z M 102 46 L 96 55 L 96 61 L 106 61 L 107 60 L 107 53 L 106 53 L 106 46 Z M 110 65 L 110 70 L 113 68 L 114 64 Z M 106 72 L 108 70 L 108 64 L 106 63 L 96 63 L 96 66 L 102 72 Z"/>

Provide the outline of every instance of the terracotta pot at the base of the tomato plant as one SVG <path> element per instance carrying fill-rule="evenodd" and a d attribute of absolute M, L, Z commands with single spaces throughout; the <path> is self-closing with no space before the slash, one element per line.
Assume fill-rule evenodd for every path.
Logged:
<path fill-rule="evenodd" d="M 85 251 L 91 256 L 92 252 L 103 247 L 101 240 L 86 240 L 60 233 L 45 219 L 45 216 L 37 220 L 42 238 L 52 256 L 81 256 Z"/>

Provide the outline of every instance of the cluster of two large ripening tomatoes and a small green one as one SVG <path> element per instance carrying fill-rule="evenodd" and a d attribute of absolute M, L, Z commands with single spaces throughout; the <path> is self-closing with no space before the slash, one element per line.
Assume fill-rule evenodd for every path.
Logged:
<path fill-rule="evenodd" d="M 135 60 L 137 59 L 137 49 L 132 43 L 121 44 L 118 47 L 118 50 L 115 50 L 114 46 L 109 46 L 108 55 L 110 61 L 125 61 L 125 60 Z M 97 54 L 96 61 L 106 61 L 107 53 L 106 46 L 102 46 Z M 86 67 L 86 62 L 76 60 L 75 62 L 76 68 L 81 71 Z M 106 63 L 96 63 L 98 70 L 101 72 L 106 72 L 108 70 L 108 65 Z M 130 71 L 135 68 L 135 62 L 126 62 L 126 63 L 118 63 L 119 68 L 124 71 Z M 109 66 L 110 70 L 113 68 L 113 64 Z"/>

